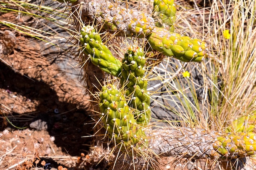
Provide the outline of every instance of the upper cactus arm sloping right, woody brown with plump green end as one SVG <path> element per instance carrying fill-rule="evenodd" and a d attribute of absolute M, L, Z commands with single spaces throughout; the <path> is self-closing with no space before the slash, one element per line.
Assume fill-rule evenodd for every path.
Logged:
<path fill-rule="evenodd" d="M 164 7 L 162 7 L 162 2 Z M 155 3 L 156 8 L 159 7 L 157 8 L 158 13 L 168 7 L 168 10 L 163 11 L 163 13 L 173 15 L 175 6 L 171 5 L 172 1 L 159 0 Z M 171 9 L 169 9 L 169 4 Z M 88 2 L 85 11 L 85 15 L 90 17 L 92 21 L 97 20 L 97 25 L 102 24 L 105 30 L 115 31 L 115 35 L 147 37 L 150 46 L 166 56 L 175 57 L 184 62 L 201 62 L 209 56 L 209 49 L 205 42 L 170 32 L 169 29 L 172 30 L 173 27 L 171 24 L 169 25 L 171 27 L 167 28 L 168 30 L 155 26 L 153 17 L 147 13 L 135 9 L 126 9 L 117 4 L 113 5 L 112 2 L 105 2 L 105 0 Z"/>

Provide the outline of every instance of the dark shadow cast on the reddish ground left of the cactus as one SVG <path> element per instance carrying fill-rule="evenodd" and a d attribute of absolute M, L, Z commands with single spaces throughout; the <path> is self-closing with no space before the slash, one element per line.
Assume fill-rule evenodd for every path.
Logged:
<path fill-rule="evenodd" d="M 31 112 L 22 114 L 11 112 L 5 115 L 7 117 L 2 115 L 1 131 L 7 126 L 13 131 L 16 129 L 13 125 L 38 131 L 47 130 L 50 136 L 55 137 L 54 143 L 57 147 L 61 147 L 64 153 L 78 156 L 88 150 L 92 139 L 81 137 L 92 134 L 92 126 L 84 124 L 91 121 L 90 111 L 87 108 L 79 109 L 79 103 L 60 100 L 57 95 L 60 92 L 56 92 L 51 85 L 15 72 L 2 62 L 0 62 L 0 81 L 2 82 L 0 89 L 4 91 L 0 96 L 3 105 L 9 103 L 8 106 L 14 106 L 18 103 L 22 108 L 22 105 L 26 107 L 26 101 L 29 101 L 29 104 L 34 103 L 36 107 Z M 20 96 L 22 98 L 19 98 Z M 10 97 L 19 98 L 19 101 L 10 104 Z M 31 108 L 34 105 L 31 105 Z M 26 109 L 29 110 L 29 107 Z"/>

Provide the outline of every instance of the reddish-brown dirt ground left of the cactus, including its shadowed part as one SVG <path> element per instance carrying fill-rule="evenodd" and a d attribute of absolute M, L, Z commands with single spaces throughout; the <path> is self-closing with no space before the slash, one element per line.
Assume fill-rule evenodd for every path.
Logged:
<path fill-rule="evenodd" d="M 0 133 L 8 130 L 0 138 L 0 169 L 79 169 L 94 143 L 93 112 L 79 65 L 69 51 L 47 53 L 46 42 L 13 32 L 14 48 L 0 57 Z M 162 168 L 181 169 L 186 160 L 170 161 L 162 160 Z M 204 164 L 189 161 L 185 169 Z"/>

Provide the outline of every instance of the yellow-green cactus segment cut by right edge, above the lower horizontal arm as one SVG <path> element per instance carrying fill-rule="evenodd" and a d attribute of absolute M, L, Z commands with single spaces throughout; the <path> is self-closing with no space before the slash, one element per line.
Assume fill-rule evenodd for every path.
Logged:
<path fill-rule="evenodd" d="M 242 116 L 227 127 L 226 133 L 255 132 L 256 115 Z"/>

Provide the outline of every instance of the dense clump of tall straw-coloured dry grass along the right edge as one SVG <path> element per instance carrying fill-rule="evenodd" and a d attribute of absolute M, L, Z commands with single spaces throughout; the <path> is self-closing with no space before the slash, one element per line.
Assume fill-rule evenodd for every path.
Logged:
<path fill-rule="evenodd" d="M 211 23 L 217 57 L 214 64 L 221 75 L 216 112 L 222 122 L 255 110 L 255 10 L 254 0 L 214 3 L 211 9 L 211 15 L 213 11 L 216 11 L 215 16 L 223 15 Z M 223 38 L 225 30 L 229 30 L 230 39 Z"/>

